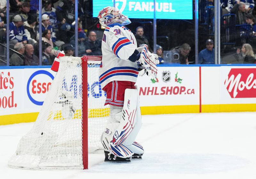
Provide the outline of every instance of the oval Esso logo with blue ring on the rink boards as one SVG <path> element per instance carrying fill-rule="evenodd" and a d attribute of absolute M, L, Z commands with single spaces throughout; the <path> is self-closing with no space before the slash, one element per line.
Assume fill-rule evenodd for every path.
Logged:
<path fill-rule="evenodd" d="M 45 70 L 34 72 L 27 82 L 28 98 L 35 105 L 43 105 L 54 76 Z"/>

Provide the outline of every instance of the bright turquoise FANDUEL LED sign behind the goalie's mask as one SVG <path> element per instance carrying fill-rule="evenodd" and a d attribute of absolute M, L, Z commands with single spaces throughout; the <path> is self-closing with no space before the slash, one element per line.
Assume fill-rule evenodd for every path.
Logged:
<path fill-rule="evenodd" d="M 193 19 L 193 0 L 156 0 L 156 19 Z M 113 6 L 112 0 L 93 0 L 93 17 Z M 154 0 L 116 0 L 116 7 L 128 18 L 153 19 Z"/>

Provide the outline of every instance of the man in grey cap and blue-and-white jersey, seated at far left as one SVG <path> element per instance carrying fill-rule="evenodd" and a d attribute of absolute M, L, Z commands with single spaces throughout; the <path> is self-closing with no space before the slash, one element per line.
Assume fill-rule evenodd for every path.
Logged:
<path fill-rule="evenodd" d="M 10 43 L 16 44 L 18 42 L 28 43 L 28 37 L 25 33 L 23 22 L 27 19 L 24 19 L 21 15 L 15 15 L 12 19 L 12 22 L 9 24 L 10 29 Z"/>

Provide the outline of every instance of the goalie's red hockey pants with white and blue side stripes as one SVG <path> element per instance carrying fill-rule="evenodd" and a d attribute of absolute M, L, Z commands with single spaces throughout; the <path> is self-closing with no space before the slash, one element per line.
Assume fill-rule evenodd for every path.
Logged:
<path fill-rule="evenodd" d="M 113 81 L 109 82 L 102 90 L 106 91 L 105 105 L 124 106 L 125 89 L 135 89 L 135 82 Z"/>

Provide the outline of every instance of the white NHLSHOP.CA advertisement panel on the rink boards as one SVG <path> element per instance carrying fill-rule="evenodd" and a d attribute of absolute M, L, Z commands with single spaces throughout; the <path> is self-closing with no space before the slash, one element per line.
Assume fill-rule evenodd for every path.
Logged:
<path fill-rule="evenodd" d="M 157 79 L 144 75 L 137 80 L 141 106 L 184 105 L 184 103 L 196 105 L 199 103 L 198 79 L 198 67 L 158 68 Z"/>

